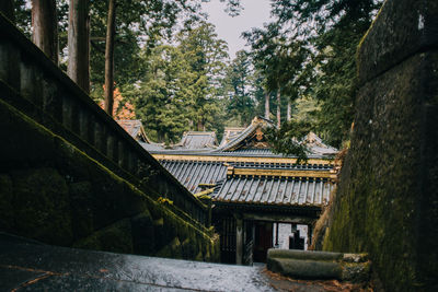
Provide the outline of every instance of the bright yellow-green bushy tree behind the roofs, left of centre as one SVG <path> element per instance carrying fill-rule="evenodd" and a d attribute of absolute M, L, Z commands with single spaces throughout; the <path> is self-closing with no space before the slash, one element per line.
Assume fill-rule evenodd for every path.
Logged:
<path fill-rule="evenodd" d="M 172 46 L 159 46 L 142 56 L 145 75 L 136 85 L 125 87 L 136 103 L 136 113 L 148 133 L 158 141 L 175 142 L 188 130 L 195 77 L 182 52 Z M 129 91 L 130 90 L 130 91 Z"/>

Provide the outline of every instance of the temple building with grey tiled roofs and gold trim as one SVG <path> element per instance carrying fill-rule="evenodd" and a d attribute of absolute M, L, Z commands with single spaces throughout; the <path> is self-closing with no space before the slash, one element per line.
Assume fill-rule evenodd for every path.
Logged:
<path fill-rule="evenodd" d="M 186 132 L 172 149 L 139 141 L 173 176 L 212 203 L 221 261 L 265 261 L 270 247 L 306 249 L 313 225 L 328 203 L 337 150 L 310 132 L 302 141 L 306 164 L 273 152 L 264 136 L 270 120 L 255 117 L 246 128 Z"/>

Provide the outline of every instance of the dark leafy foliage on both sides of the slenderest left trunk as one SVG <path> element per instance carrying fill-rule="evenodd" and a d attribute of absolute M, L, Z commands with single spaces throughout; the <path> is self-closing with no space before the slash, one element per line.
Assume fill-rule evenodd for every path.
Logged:
<path fill-rule="evenodd" d="M 141 48 L 150 51 L 174 34 L 177 19 L 183 25 L 196 21 L 199 3 L 184 1 L 117 1 L 115 37 L 116 86 L 129 86 L 141 79 Z M 105 66 L 107 1 L 92 1 L 91 19 L 91 95 L 102 98 Z M 124 94 L 124 92 L 122 92 Z"/>

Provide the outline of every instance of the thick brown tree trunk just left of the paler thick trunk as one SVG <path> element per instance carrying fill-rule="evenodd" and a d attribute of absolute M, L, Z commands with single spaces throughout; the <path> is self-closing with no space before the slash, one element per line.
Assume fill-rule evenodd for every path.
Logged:
<path fill-rule="evenodd" d="M 55 0 L 32 0 L 32 42 L 58 65 L 58 19 Z"/>

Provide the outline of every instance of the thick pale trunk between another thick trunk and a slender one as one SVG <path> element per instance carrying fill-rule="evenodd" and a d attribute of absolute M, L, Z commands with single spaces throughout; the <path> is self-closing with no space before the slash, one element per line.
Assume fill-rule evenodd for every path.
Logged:
<path fill-rule="evenodd" d="M 90 94 L 89 0 L 70 0 L 67 74 Z"/>

